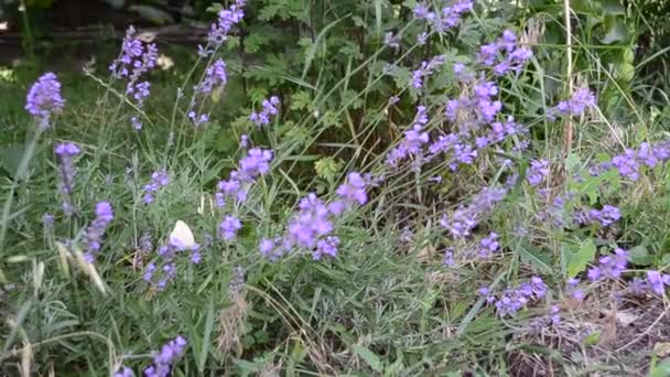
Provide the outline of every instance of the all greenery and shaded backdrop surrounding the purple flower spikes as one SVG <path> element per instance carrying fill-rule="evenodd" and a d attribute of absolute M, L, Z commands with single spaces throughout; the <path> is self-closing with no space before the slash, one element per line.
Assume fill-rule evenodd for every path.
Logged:
<path fill-rule="evenodd" d="M 612 341 L 610 327 L 596 326 L 615 315 L 609 308 L 620 301 L 612 298 L 623 282 L 588 286 L 593 299 L 577 306 L 565 298 L 564 281 L 583 276 L 613 245 L 630 250 L 633 273 L 670 265 L 668 169 L 649 170 L 635 183 L 612 172 L 588 174 L 594 161 L 667 136 L 667 1 L 571 1 L 574 37 L 568 46 L 559 1 L 482 1 L 458 28 L 419 45 L 425 25 L 415 20 L 412 0 L 251 0 L 244 22 L 218 52 L 229 82 L 206 99 L 207 128 L 193 131 L 184 109 L 174 105 L 175 88 L 193 67 L 195 77 L 204 68 L 196 64 L 195 46 L 159 37 L 174 67 L 151 74 L 152 97 L 144 111 L 152 121 L 141 133 L 132 131 L 132 110 L 112 95 L 118 84 L 107 80 L 107 64 L 118 46 L 110 40 L 105 44 L 114 44 L 112 50 L 96 50 L 96 63 L 86 62 L 90 75 L 82 75 L 79 65 L 63 69 L 65 114 L 23 176 L 18 166 L 30 119 L 18 94 L 52 68 L 53 56 L 77 50 L 41 26 L 55 2 L 25 4 L 28 18 L 13 14 L 35 58 L 0 71 L 0 90 L 17 94 L 0 104 L 2 185 L 19 182 L 15 213 L 3 218 L 11 223 L 2 245 L 3 373 L 17 374 L 25 365 L 75 375 L 112 374 L 121 364 L 137 369 L 150 364 L 151 349 L 182 334 L 190 346 L 174 374 L 184 376 L 523 376 L 538 367 L 537 360 L 565 374 L 633 373 L 642 365 L 650 375 L 663 375 L 668 355 L 655 346 L 668 337 L 648 341 L 648 349 L 628 349 L 630 336 L 646 327 L 634 328 L 628 337 L 617 327 L 620 340 Z M 194 18 L 209 22 L 226 6 L 195 1 Z M 446 67 L 473 64 L 480 44 L 505 29 L 528 34 L 534 56 L 525 71 L 499 79 L 506 109 L 530 127 L 532 141 L 527 153 L 515 152 L 519 140 L 508 142 L 504 158 L 514 160 L 521 174 L 534 158 L 550 160 L 552 169 L 564 166 L 564 188 L 576 193 L 566 211 L 616 203 L 623 211 L 616 226 L 549 225 L 538 219 L 547 200 L 519 183 L 477 229 L 502 229 L 505 254 L 447 269 L 444 255 L 453 245 L 439 229 L 440 215 L 468 203 L 483 185 L 511 175 L 501 157 L 489 153 L 458 172 L 441 161 L 420 173 L 408 168 L 391 174 L 370 191 L 370 205 L 338 224 L 343 254 L 336 259 L 315 262 L 292 255 L 268 262 L 259 257 L 259 239 L 277 231 L 304 193 L 332 195 L 352 170 L 387 173 L 376 170 L 412 125 L 418 105 L 435 115 L 431 131 L 447 131 L 440 107 L 462 93 L 457 78 L 442 69 L 418 89 L 410 85 L 412 71 L 439 54 Z M 398 47 L 385 44 L 388 33 L 399 35 Z M 574 56 L 572 77 L 565 72 L 568 49 Z M 545 115 L 569 95 L 569 79 L 593 88 L 598 107 L 595 115 L 575 120 L 575 148 L 563 157 L 564 122 L 548 121 Z M 271 95 L 281 98 L 280 114 L 259 129 L 248 116 Z M 390 104 L 393 96 L 399 101 Z M 170 127 L 174 109 L 181 117 L 172 123 L 176 129 Z M 176 219 L 187 222 L 198 237 L 216 234 L 220 214 L 208 204 L 210 193 L 244 154 L 242 134 L 275 152 L 271 176 L 255 186 L 250 204 L 240 208 L 240 217 L 253 225 L 245 226 L 235 244 L 215 243 L 204 267 L 183 266 L 184 279 L 173 290 L 147 289 L 140 278 L 143 261 L 136 259 L 140 238 L 148 233 L 160 244 Z M 55 246 L 63 235 L 84 228 L 85 218 L 42 229 L 43 213 L 58 211 L 51 151 L 53 142 L 64 140 L 85 150 L 78 173 L 78 183 L 86 185 L 77 194 L 82 212 L 93 213 L 93 203 L 101 198 L 119 205 L 98 262 L 107 294 L 63 261 Z M 142 186 L 158 169 L 170 171 L 172 182 L 144 207 Z M 246 271 L 240 297 L 230 293 L 237 266 Z M 502 290 L 531 274 L 555 288 L 544 306 L 555 303 L 565 323 L 597 330 L 575 334 L 579 326 L 568 325 L 538 340 L 532 320 L 545 316 L 547 308 L 538 304 L 501 319 L 476 291 L 482 286 Z M 614 308 L 658 314 L 667 310 L 667 300 L 626 305 Z"/>

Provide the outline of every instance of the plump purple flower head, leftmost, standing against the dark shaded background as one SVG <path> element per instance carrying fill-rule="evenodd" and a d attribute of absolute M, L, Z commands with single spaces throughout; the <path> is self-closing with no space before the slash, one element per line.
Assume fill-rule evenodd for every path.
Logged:
<path fill-rule="evenodd" d="M 25 110 L 37 119 L 42 130 L 50 127 L 51 116 L 62 112 L 64 106 L 65 100 L 61 97 L 61 83 L 51 72 L 42 75 L 33 84 L 25 98 Z"/>

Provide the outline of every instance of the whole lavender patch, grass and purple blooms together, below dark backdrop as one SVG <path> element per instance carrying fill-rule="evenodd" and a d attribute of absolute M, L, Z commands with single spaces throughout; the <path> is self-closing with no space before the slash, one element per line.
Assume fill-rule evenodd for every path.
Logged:
<path fill-rule="evenodd" d="M 610 75 L 563 94 L 537 19 L 378 1 L 374 50 L 310 84 L 324 25 L 303 77 L 226 127 L 246 7 L 217 8 L 168 106 L 133 28 L 87 73 L 90 108 L 54 73 L 30 87 L 2 195 L 4 373 L 663 375 L 670 141 L 642 111 L 641 131 L 607 120 Z"/>

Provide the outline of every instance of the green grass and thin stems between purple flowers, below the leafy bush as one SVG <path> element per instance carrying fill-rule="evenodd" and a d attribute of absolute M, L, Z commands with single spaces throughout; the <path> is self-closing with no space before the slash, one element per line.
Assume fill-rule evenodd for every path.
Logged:
<path fill-rule="evenodd" d="M 501 19 L 473 19 L 464 29 L 490 35 L 482 36 L 484 41 L 495 39 L 505 24 Z M 402 31 L 412 28 L 410 23 Z M 446 67 L 455 61 L 472 63 L 480 42 L 436 41 L 428 52 L 446 53 Z M 457 171 L 446 159 L 420 172 L 409 163 L 397 172 L 383 164 L 411 126 L 418 104 L 430 109 L 426 129 L 432 136 L 451 131 L 443 106 L 462 91 L 461 84 L 445 68 L 425 91 L 410 88 L 406 76 L 426 52 L 418 45 L 397 55 L 379 46 L 363 60 L 352 60 L 334 84 L 324 78 L 333 74 L 327 62 L 311 50 L 299 69 L 305 73 L 302 77 L 273 77 L 283 85 L 283 106 L 264 129 L 246 118 L 274 87 L 263 88 L 250 74 L 253 68 L 231 52 L 224 54 L 230 62 L 226 90 L 202 101 L 212 121 L 194 129 L 184 114 L 187 97 L 175 105 L 175 96 L 195 55 L 172 46 L 166 54 L 175 67 L 152 74 L 152 97 L 139 132 L 129 121 L 136 110 L 117 95 L 122 84 L 109 84 L 104 69 L 114 53 L 101 53 L 91 76 L 60 74 L 65 111 L 40 136 L 25 169 L 18 166 L 34 125 L 23 110 L 24 94 L 48 64 L 14 68 L 11 80 L 0 82 L 0 90 L 12 94 L 0 103 L 0 200 L 9 203 L 0 243 L 0 370 L 97 376 L 126 365 L 139 374 L 151 364 L 152 352 L 176 335 L 188 345 L 174 376 L 527 376 L 537 369 L 571 376 L 596 370 L 639 375 L 662 365 L 667 355 L 655 345 L 670 341 L 663 330 L 669 324 L 667 298 L 622 299 L 617 292 L 648 269 L 668 271 L 670 171 L 666 164 L 642 169 L 637 182 L 615 172 L 598 177 L 587 172 L 594 161 L 619 154 L 622 143 L 637 148 L 663 140 L 667 109 L 644 77 L 617 80 L 598 56 L 577 45 L 584 54 L 580 58 L 587 62 L 580 75 L 598 89 L 599 107 L 573 120 L 574 150 L 562 157 L 563 120 L 549 121 L 543 115 L 563 98 L 564 47 L 540 42 L 521 74 L 497 80 L 506 112 L 529 126 L 531 148 L 518 152 L 515 147 L 525 137 L 515 136 Z M 401 77 L 383 75 L 383 62 L 397 64 Z M 201 64 L 195 72 L 203 68 Z M 311 72 L 317 75 L 306 74 Z M 186 93 L 192 86 L 184 84 Z M 388 90 L 401 98 L 398 105 L 388 105 Z M 244 205 L 221 211 L 214 206 L 213 193 L 244 157 L 238 146 L 242 133 L 255 146 L 274 151 L 272 169 L 253 184 Z M 63 215 L 57 190 L 53 147 L 62 141 L 83 150 L 76 159 L 73 217 Z M 539 217 L 552 204 L 523 180 L 536 159 L 552 164 L 543 188 L 551 188 L 551 195 L 572 193 L 562 206 L 563 219 L 575 209 L 612 204 L 622 209 L 622 220 L 606 228 L 562 227 Z M 171 182 L 147 205 L 143 186 L 159 169 L 169 172 Z M 315 261 L 304 251 L 277 261 L 261 257 L 260 239 L 281 234 L 301 197 L 317 191 L 333 198 L 353 170 L 386 180 L 369 190 L 368 204 L 335 223 L 342 240 L 336 258 Z M 454 240 L 440 226 L 442 215 L 467 205 L 482 187 L 502 185 L 514 173 L 521 179 L 483 216 L 472 237 Z M 442 180 L 435 182 L 435 176 Z M 112 204 L 116 217 L 95 265 L 87 265 L 78 249 L 100 201 Z M 205 245 L 230 211 L 244 224 L 235 241 L 214 237 Z M 55 215 L 53 227 L 43 226 L 45 213 Z M 177 278 L 158 291 L 142 273 L 177 220 L 188 224 L 204 245 L 203 262 L 194 266 L 185 256 L 177 258 Z M 490 231 L 500 236 L 501 251 L 478 258 L 477 245 Z M 153 243 L 148 252 L 141 250 L 143 235 Z M 78 247 L 68 243 L 73 239 Z M 598 256 L 617 245 L 633 254 L 624 277 L 584 279 L 587 299 L 571 300 L 566 278 L 584 278 Z M 450 248 L 455 249 L 453 267 L 444 263 Z M 245 271 L 239 291 L 230 288 L 237 267 Z M 517 315 L 501 317 L 478 293 L 486 286 L 500 294 L 531 276 L 541 276 L 549 292 Z M 542 322 L 552 305 L 561 310 L 561 324 Z M 617 311 L 640 327 L 623 325 Z M 660 367 L 656 370 L 662 375 Z"/>

